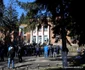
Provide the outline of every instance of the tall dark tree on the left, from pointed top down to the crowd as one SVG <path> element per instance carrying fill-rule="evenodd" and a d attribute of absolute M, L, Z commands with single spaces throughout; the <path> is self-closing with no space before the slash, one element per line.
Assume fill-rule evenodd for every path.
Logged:
<path fill-rule="evenodd" d="M 14 0 L 11 0 L 7 7 L 4 7 L 3 11 L 3 27 L 5 28 L 5 43 L 6 45 L 11 43 L 10 34 L 14 31 L 13 36 L 14 40 L 18 35 L 18 13 L 14 8 Z M 13 41 L 14 41 L 13 40 Z"/>

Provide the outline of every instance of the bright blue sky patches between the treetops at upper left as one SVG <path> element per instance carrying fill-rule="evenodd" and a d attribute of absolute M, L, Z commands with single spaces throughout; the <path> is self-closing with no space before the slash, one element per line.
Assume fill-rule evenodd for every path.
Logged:
<path fill-rule="evenodd" d="M 4 5 L 8 6 L 10 1 L 11 0 L 3 0 Z M 19 1 L 21 1 L 21 2 L 28 2 L 28 1 L 33 2 L 34 0 L 19 0 Z M 16 6 L 16 10 L 18 12 L 18 19 L 20 18 L 22 13 L 26 14 L 26 12 L 23 9 L 21 9 L 19 6 Z"/>

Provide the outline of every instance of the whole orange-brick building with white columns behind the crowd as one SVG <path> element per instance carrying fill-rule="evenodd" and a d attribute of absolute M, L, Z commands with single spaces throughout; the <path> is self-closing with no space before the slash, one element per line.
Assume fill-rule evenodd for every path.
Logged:
<path fill-rule="evenodd" d="M 56 36 L 56 38 L 53 38 L 53 25 L 51 21 L 48 21 L 47 24 L 39 24 L 35 27 L 35 29 L 30 32 L 24 33 L 24 28 L 27 27 L 26 24 L 21 24 L 19 27 L 19 35 L 21 35 L 24 38 L 24 41 L 28 43 L 50 43 L 50 44 L 56 44 L 56 39 L 59 36 Z M 69 32 L 67 32 L 69 33 Z M 67 34 L 68 35 L 68 34 Z M 70 37 L 66 36 L 66 38 L 71 42 Z M 59 41 L 61 43 L 61 40 Z"/>

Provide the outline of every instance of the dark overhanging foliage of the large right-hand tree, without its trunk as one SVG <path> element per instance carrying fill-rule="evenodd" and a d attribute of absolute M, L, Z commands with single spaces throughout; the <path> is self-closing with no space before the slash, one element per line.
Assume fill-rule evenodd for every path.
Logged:
<path fill-rule="evenodd" d="M 85 43 L 84 25 L 81 24 L 83 23 L 82 16 L 84 16 L 83 3 L 84 3 L 83 1 L 77 2 L 74 0 L 55 0 L 55 1 L 35 0 L 35 2 L 33 3 L 18 2 L 18 4 L 27 12 L 30 12 L 30 10 L 35 11 L 33 13 L 35 13 L 36 16 L 38 16 L 39 18 L 41 16 L 40 15 L 41 11 L 46 10 L 46 13 L 50 12 L 52 14 L 53 24 L 55 25 L 55 27 L 53 28 L 54 30 L 53 33 L 55 37 L 56 34 L 60 33 L 61 29 L 64 28 L 64 30 L 69 29 L 71 31 L 72 33 L 71 36 L 77 35 L 79 41 L 81 41 L 81 43 Z M 30 12 L 31 15 L 33 15 L 33 13 Z M 47 14 L 45 14 L 45 16 L 47 16 Z M 81 18 L 79 18 L 79 16 Z M 35 15 L 29 16 L 29 18 L 33 18 L 33 17 L 35 17 Z M 60 18 L 56 19 L 56 17 L 60 17 Z"/>

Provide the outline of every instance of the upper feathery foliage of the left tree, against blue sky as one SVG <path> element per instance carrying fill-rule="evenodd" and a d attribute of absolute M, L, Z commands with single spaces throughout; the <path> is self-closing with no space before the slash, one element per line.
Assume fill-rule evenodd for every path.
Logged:
<path fill-rule="evenodd" d="M 4 13 L 3 13 L 3 22 L 4 26 L 8 28 L 9 30 L 13 30 L 17 27 L 17 19 L 18 13 L 12 6 L 10 5 L 9 7 L 4 8 Z"/>

